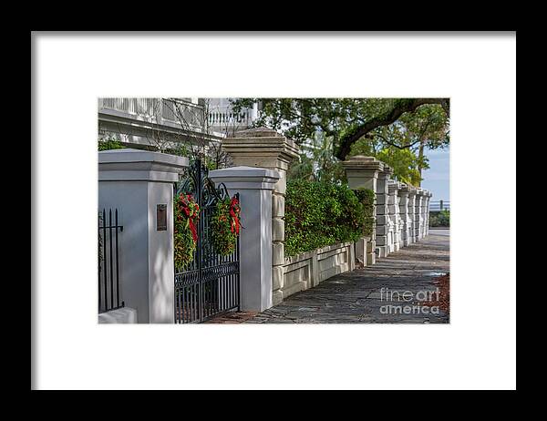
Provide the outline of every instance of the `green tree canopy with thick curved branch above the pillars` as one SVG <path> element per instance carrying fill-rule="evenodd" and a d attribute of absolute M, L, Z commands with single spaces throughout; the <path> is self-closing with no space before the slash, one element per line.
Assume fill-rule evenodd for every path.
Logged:
<path fill-rule="evenodd" d="M 315 170 L 315 177 L 321 170 L 335 177 L 340 173 L 337 159 L 360 153 L 387 162 L 397 180 L 419 185 L 422 169 L 428 168 L 424 149 L 449 144 L 448 98 L 232 100 L 236 112 L 255 103 L 261 112 L 254 126 L 274 128 L 300 144 L 304 154 L 298 170 L 303 174 Z"/>

